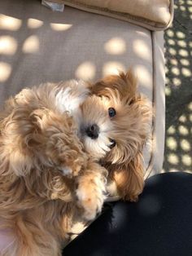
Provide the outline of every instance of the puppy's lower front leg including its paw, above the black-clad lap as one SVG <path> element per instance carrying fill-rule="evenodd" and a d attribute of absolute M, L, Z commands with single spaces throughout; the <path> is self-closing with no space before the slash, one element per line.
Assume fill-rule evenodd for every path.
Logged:
<path fill-rule="evenodd" d="M 77 179 L 77 203 L 84 210 L 83 217 L 87 220 L 94 219 L 102 210 L 106 198 L 106 176 L 106 169 L 96 163 L 89 163 L 85 173 Z"/>

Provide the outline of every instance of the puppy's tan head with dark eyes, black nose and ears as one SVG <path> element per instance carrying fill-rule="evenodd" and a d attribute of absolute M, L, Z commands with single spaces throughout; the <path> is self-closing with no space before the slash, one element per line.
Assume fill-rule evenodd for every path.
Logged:
<path fill-rule="evenodd" d="M 138 192 L 132 192 L 130 183 L 142 191 L 142 148 L 151 128 L 151 108 L 137 93 L 137 79 L 131 70 L 104 77 L 90 90 L 92 95 L 82 105 L 85 148 L 93 155 L 100 154 L 119 190 L 128 189 L 122 196 L 134 200 L 131 194 Z"/>

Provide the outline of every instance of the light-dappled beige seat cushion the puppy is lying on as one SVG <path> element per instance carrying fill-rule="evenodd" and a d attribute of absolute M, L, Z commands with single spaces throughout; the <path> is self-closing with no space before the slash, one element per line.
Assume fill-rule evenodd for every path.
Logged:
<path fill-rule="evenodd" d="M 164 153 L 163 33 L 72 7 L 52 12 L 36 0 L 2 1 L 0 10 L 1 107 L 26 86 L 73 77 L 96 81 L 133 67 L 139 90 L 158 111 L 144 156 L 146 175 L 159 172 Z"/>

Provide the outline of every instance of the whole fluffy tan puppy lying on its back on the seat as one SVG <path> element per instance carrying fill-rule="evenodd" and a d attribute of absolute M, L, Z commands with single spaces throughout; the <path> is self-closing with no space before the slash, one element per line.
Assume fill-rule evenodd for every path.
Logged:
<path fill-rule="evenodd" d="M 106 188 L 136 201 L 150 120 L 131 71 L 9 99 L 0 115 L 1 255 L 61 255 L 76 215 L 93 219 Z"/>

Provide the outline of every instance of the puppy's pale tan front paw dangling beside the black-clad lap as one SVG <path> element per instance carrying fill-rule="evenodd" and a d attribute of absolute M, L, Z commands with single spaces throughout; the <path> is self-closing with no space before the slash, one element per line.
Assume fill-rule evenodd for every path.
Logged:
<path fill-rule="evenodd" d="M 92 220 L 101 212 L 105 200 L 105 187 L 98 177 L 79 183 L 76 190 L 77 205 L 83 210 L 82 217 Z"/>

